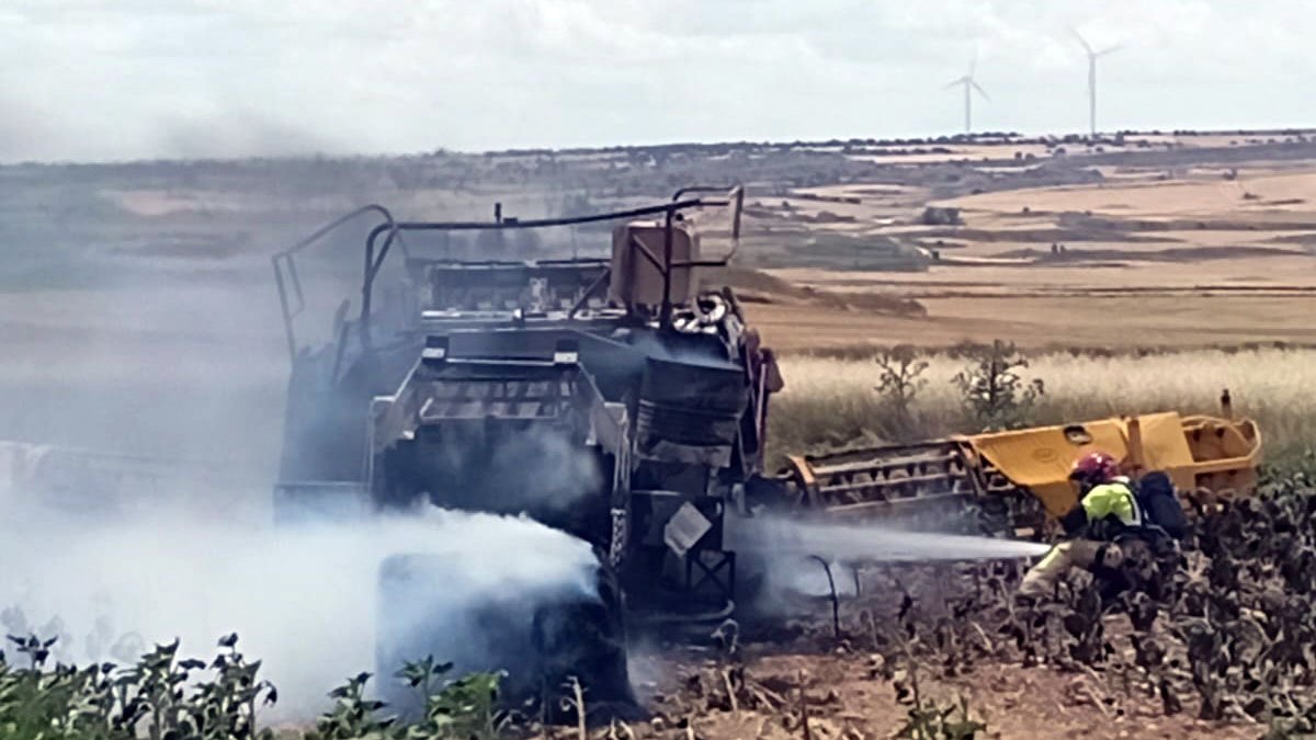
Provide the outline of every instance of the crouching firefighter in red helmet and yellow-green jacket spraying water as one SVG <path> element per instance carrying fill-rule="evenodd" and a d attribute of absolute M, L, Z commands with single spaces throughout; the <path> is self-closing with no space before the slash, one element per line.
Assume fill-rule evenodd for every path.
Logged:
<path fill-rule="evenodd" d="M 1074 462 L 1070 482 L 1078 487 L 1079 503 L 1061 517 L 1067 539 L 1024 575 L 1019 586 L 1023 599 L 1049 594 L 1073 568 L 1117 569 L 1124 552 L 1116 540 L 1125 540 L 1144 525 L 1138 496 L 1129 479 L 1120 477 L 1113 457 L 1103 452 L 1084 454 Z"/>

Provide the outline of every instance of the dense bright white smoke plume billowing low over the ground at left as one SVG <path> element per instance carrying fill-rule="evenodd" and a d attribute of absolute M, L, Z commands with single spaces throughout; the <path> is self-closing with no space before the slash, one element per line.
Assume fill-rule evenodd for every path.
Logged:
<path fill-rule="evenodd" d="M 399 553 L 476 565 L 442 594 L 413 595 L 440 615 L 505 593 L 590 596 L 597 565 L 588 544 L 536 521 L 433 508 L 292 529 L 242 515 L 95 521 L 25 508 L 0 523 L 0 608 L 8 632 L 59 636 L 66 661 L 132 660 L 175 637 L 182 654 L 205 658 L 237 632 L 279 689 L 274 715 L 305 719 L 346 677 L 375 672 L 379 566 Z M 461 640 L 459 620 L 440 621 Z"/>

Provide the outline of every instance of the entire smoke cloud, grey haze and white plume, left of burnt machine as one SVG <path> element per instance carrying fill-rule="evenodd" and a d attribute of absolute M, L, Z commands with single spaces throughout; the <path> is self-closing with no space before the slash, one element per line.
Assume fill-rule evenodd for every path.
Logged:
<path fill-rule="evenodd" d="M 166 180 L 190 191 L 196 183 L 186 179 L 197 172 Z M 303 175 L 275 169 L 268 176 Z M 200 179 L 196 187 L 220 201 L 230 195 Z M 87 211 L 79 198 L 58 205 Z M 72 287 L 11 275 L 22 290 L 0 292 L 0 438 L 24 444 L 0 444 L 0 628 L 59 636 L 55 657 L 79 662 L 130 661 L 175 637 L 182 654 L 205 658 L 218 637 L 237 632 L 238 648 L 265 661 L 282 712 L 307 716 L 346 677 L 376 670 L 378 581 L 390 556 L 475 564 L 445 578 L 443 594 L 416 594 L 417 611 L 454 643 L 465 635 L 463 610 L 487 598 L 588 593 L 590 546 L 517 517 L 429 511 L 296 529 L 270 524 L 288 373 L 268 254 L 304 236 L 296 224 L 318 221 L 332 203 L 254 205 L 291 225 L 250 240 L 187 212 L 166 224 L 105 208 L 89 217 L 91 230 L 137 234 L 153 251 L 125 257 L 111 236 L 86 245 L 67 237 L 78 244 L 39 250 L 32 265 Z M 96 200 L 91 212 L 103 207 Z M 359 295 L 367 228 L 355 224 L 299 261 L 307 290 L 299 346 L 332 336 L 334 307 Z M 190 249 L 193 237 L 249 249 L 211 259 Z M 499 463 L 537 474 L 533 496 L 575 504 L 579 492 L 561 481 L 591 482 L 592 469 L 555 440 L 537 442 Z M 104 452 L 104 465 L 97 453 L 61 448 Z M 178 473 L 193 463 L 215 479 Z M 129 479 L 121 465 L 149 474 Z M 425 608 L 426 599 L 436 606 Z"/>

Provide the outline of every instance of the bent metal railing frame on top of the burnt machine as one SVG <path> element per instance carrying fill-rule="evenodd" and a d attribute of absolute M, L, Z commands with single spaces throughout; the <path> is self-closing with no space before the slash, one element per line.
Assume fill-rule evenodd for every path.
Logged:
<path fill-rule="evenodd" d="M 724 194 L 722 198 L 687 198 L 690 194 Z M 365 250 L 365 263 L 362 267 L 362 286 L 361 286 L 361 342 L 362 348 L 367 352 L 371 349 L 370 342 L 370 311 L 374 298 L 374 284 L 375 278 L 379 277 L 379 270 L 383 267 L 384 259 L 388 257 L 390 249 L 396 241 L 404 253 L 408 253 L 407 245 L 403 241 L 404 232 L 470 232 L 470 230 L 503 230 L 503 229 L 541 229 L 551 226 L 570 226 L 579 224 L 594 224 L 599 221 L 615 221 L 621 219 L 636 219 L 640 216 L 655 216 L 663 215 L 663 255 L 659 259 L 658 255 L 653 254 L 644 245 L 640 246 L 640 253 L 647 259 L 663 277 L 663 303 L 659 312 L 659 324 L 662 328 L 670 328 L 671 325 L 671 273 L 676 269 L 683 267 L 722 267 L 736 257 L 740 249 L 740 221 L 741 212 L 745 204 L 745 191 L 741 186 L 690 186 L 678 190 L 672 194 L 671 200 L 667 203 L 657 205 L 646 205 L 642 208 L 630 208 L 625 211 L 612 211 L 608 213 L 595 213 L 590 216 L 572 216 L 565 219 L 536 219 L 536 220 L 517 220 L 517 219 L 504 219 L 499 211 L 495 211 L 494 221 L 397 221 L 393 219 L 392 213 L 388 212 L 383 205 L 365 205 L 358 208 L 340 219 L 321 226 L 311 236 L 303 238 L 301 241 L 293 244 L 292 246 L 283 249 L 271 257 L 274 265 L 274 279 L 279 288 L 279 305 L 283 311 L 283 327 L 288 341 L 288 354 L 292 359 L 296 359 L 297 346 L 296 337 L 293 332 L 295 319 L 305 309 L 305 299 L 301 291 L 301 280 L 297 277 L 295 255 L 309 248 L 312 244 L 320 241 L 330 232 L 342 226 L 347 221 L 363 216 L 366 213 L 378 213 L 383 223 L 375 225 L 370 234 L 366 237 L 366 250 Z M 732 249 L 721 259 L 690 259 L 672 262 L 671 249 L 672 249 L 672 224 L 675 221 L 676 213 L 690 209 L 690 208 L 732 208 Z M 387 233 L 383 244 L 378 245 L 379 237 Z M 378 254 L 376 254 L 378 251 Z M 409 257 L 409 253 L 407 254 Z M 563 263 L 572 261 L 562 261 Z M 567 317 L 574 317 L 586 304 L 590 295 L 596 292 L 603 282 L 608 278 L 609 271 L 595 280 L 595 284 L 590 287 L 586 296 L 571 308 Z M 291 295 L 290 295 L 291 291 Z M 295 299 L 295 305 L 293 305 Z"/>

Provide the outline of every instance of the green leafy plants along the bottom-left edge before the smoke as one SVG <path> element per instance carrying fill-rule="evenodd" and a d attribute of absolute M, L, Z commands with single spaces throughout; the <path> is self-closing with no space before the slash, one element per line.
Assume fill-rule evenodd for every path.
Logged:
<path fill-rule="evenodd" d="M 5 740 L 272 740 L 257 710 L 278 700 L 258 678 L 261 661 L 237 649 L 237 635 L 220 640 L 209 664 L 178 657 L 179 643 L 157 645 L 134 665 L 49 665 L 54 639 L 9 636 L 21 656 L 0 652 L 0 737 Z M 422 716 L 400 724 L 382 716 L 383 702 L 366 697 L 368 673 L 350 678 L 329 698 L 334 706 L 307 740 L 441 740 L 501 736 L 509 715 L 499 708 L 501 673 L 472 673 L 441 683 L 451 664 L 407 664 L 399 677 L 425 699 Z M 204 672 L 209 672 L 208 674 Z"/>

